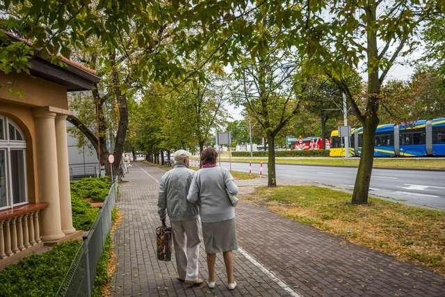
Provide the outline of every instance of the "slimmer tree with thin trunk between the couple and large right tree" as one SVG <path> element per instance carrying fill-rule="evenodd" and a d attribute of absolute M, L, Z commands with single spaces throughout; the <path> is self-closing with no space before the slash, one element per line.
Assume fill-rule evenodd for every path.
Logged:
<path fill-rule="evenodd" d="M 254 3 L 256 10 L 243 18 L 238 61 L 234 78 L 238 82 L 234 103 L 245 106 L 266 134 L 268 143 L 268 186 L 276 186 L 275 137 L 298 112 L 296 96 L 296 62 L 289 32 L 296 29 L 293 20 L 297 6 L 282 1 Z"/>

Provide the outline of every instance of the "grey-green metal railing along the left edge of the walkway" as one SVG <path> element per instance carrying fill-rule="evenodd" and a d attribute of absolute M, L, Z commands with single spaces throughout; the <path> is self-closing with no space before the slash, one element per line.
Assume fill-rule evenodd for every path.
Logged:
<path fill-rule="evenodd" d="M 118 183 L 115 182 L 88 235 L 83 236 L 82 245 L 60 285 L 57 296 L 91 296 L 92 287 L 95 284 L 97 262 L 102 255 L 106 236 L 111 229 L 111 211 L 115 206 L 117 193 Z"/>

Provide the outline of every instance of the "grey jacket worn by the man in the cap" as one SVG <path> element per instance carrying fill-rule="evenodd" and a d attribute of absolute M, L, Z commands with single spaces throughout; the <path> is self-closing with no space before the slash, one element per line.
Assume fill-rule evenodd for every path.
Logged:
<path fill-rule="evenodd" d="M 165 209 L 170 220 L 192 220 L 199 217 L 197 205 L 187 201 L 193 172 L 184 163 L 177 163 L 163 175 L 159 182 L 158 198 L 158 213 L 161 219 L 165 218 Z"/>

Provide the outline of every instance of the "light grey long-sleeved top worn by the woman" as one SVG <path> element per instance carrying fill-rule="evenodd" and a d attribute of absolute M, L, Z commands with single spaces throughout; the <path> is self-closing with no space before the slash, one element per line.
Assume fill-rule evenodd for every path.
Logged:
<path fill-rule="evenodd" d="M 235 217 L 235 208 L 229 201 L 226 189 L 232 195 L 238 193 L 234 178 L 226 168 L 201 168 L 195 172 L 187 200 L 200 204 L 203 223 L 220 222 Z"/>

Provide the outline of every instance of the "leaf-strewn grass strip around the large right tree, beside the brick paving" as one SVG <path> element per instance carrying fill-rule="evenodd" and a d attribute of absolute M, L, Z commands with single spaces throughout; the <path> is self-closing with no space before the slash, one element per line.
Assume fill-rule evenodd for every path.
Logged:
<path fill-rule="evenodd" d="M 350 204 L 350 194 L 319 186 L 259 187 L 246 196 L 277 214 L 336 234 L 445 276 L 445 211 L 370 198 Z"/>

